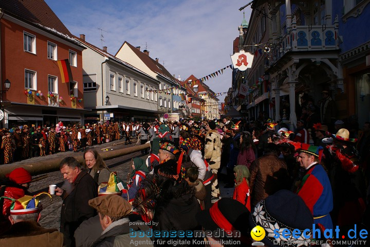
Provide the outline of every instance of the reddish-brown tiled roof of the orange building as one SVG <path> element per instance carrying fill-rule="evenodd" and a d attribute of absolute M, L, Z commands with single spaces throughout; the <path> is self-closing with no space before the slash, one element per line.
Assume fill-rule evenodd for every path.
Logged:
<path fill-rule="evenodd" d="M 17 17 L 17 19 L 41 24 L 42 26 L 53 28 L 58 32 L 71 36 L 66 26 L 64 26 L 62 21 L 44 0 L 2 0 L 0 1 L 0 8 L 6 14 Z"/>

